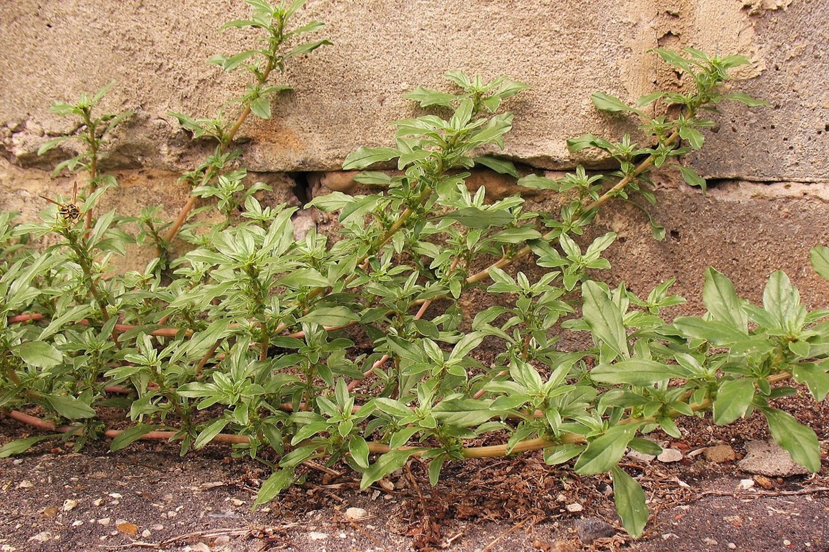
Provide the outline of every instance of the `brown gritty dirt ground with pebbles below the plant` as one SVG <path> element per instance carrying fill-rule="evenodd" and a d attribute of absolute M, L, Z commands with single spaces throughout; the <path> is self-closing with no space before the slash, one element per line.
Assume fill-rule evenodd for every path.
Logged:
<path fill-rule="evenodd" d="M 437 487 L 415 459 L 366 491 L 347 467 L 308 467 L 301 485 L 251 511 L 268 472 L 227 448 L 181 458 L 173 443 L 75 453 L 56 440 L 0 459 L 0 552 L 829 552 L 829 404 L 787 401 L 822 441 L 820 473 L 744 471 L 750 442 L 768 439 L 756 415 L 725 428 L 685 420 L 681 441 L 667 442 L 674 458 L 623 462 L 651 509 L 637 541 L 621 530 L 608 477 L 577 477 L 539 454 L 452 465 Z M 0 445 L 35 434 L 0 414 Z"/>

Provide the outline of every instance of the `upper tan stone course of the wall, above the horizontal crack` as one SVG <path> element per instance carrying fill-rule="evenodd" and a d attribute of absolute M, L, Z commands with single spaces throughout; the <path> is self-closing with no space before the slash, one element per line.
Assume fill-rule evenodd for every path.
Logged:
<path fill-rule="evenodd" d="M 68 124 L 48 112 L 114 79 L 104 107 L 136 110 L 116 141 L 118 167 L 190 167 L 187 139 L 168 111 L 208 116 L 241 90 L 244 75 L 205 61 L 250 46 L 240 0 L 7 0 L 0 28 L 0 140 L 7 155 L 39 163 L 36 148 Z M 653 46 L 743 53 L 741 90 L 773 110 L 726 106 L 698 162 L 709 177 L 827 181 L 829 93 L 823 75 L 829 7 L 820 0 L 600 0 L 385 2 L 311 0 L 304 20 L 327 23 L 334 41 L 294 60 L 293 85 L 274 120 L 243 128 L 245 162 L 257 171 L 331 170 L 360 145 L 390 143 L 389 122 L 417 113 L 402 94 L 444 86 L 446 70 L 507 74 L 532 90 L 511 100 L 515 132 L 506 154 L 537 167 L 572 167 L 565 139 L 618 136 L 628 126 L 595 111 L 589 94 L 633 100 L 684 81 L 648 54 Z M 227 109 L 233 110 L 230 106 Z M 47 160 L 48 161 L 48 160 Z"/>

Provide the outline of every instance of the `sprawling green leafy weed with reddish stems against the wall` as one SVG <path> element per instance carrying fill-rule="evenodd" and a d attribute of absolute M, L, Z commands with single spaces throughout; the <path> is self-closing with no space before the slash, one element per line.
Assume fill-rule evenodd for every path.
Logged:
<path fill-rule="evenodd" d="M 166 273 L 159 258 L 102 278 L 110 257 L 133 242 L 114 214 L 93 217 L 88 229 L 66 216 L 27 225 L 0 217 L 0 408 L 8 415 L 64 438 L 105 434 L 114 450 L 146 438 L 178 440 L 182 454 L 229 443 L 235 455 L 273 469 L 256 504 L 292 485 L 311 462 L 344 462 L 365 488 L 410 458 L 428 462 L 436 484 L 447 462 L 543 451 L 550 465 L 608 472 L 633 536 L 647 521 L 645 494 L 618 463 L 628 448 L 658 453 L 642 435 L 662 429 L 678 437 L 680 416 L 713 412 L 716 424 L 730 424 L 758 410 L 792 458 L 817 471 L 815 433 L 769 401 L 793 393 L 790 380 L 825 398 L 829 312 L 807 312 L 783 273 L 769 278 L 763 304 L 753 305 L 710 269 L 705 316 L 667 322 L 664 309 L 683 301 L 671 295 L 671 281 L 647 298 L 610 288 L 595 275 L 608 268 L 602 254 L 615 235 L 584 240 L 607 201 L 655 201 L 655 168 L 676 167 L 704 186 L 677 159 L 703 145 L 705 109 L 726 99 L 761 104 L 720 91 L 744 58 L 657 50 L 691 76 L 690 90 L 648 94 L 636 106 L 594 94 L 598 109 L 639 119 L 643 143 L 628 135 L 575 138 L 574 153 L 599 148 L 618 170 L 577 167 L 558 180 L 521 177 L 492 153 L 513 120 L 500 109 L 526 85 L 451 71 L 454 91 L 408 94 L 430 113 L 395 122 L 392 146 L 347 157 L 344 168 L 381 191 L 332 192 L 308 205 L 337 213 L 339 239 L 311 230 L 295 240 L 295 209 L 263 206 L 245 192 L 245 173 L 230 167 L 228 148 L 248 113 L 269 116 L 267 98 L 278 91 L 266 85 L 269 73 L 325 41 L 279 53 L 289 37 L 321 24 L 286 31 L 303 2 L 248 3 L 251 19 L 227 27 L 264 31 L 264 46 L 215 60 L 255 78 L 238 99 L 239 118 L 229 125 L 177 115 L 196 138 L 219 143 L 187 178 L 197 183 L 195 196 L 219 198 L 224 225 L 194 234 L 196 247 L 170 259 Z M 366 170 L 378 163 L 395 171 Z M 475 166 L 560 194 L 560 212 L 526 211 L 517 195 L 488 201 L 483 188 L 471 193 L 464 181 Z M 105 189 L 90 194 L 85 213 Z M 159 238 L 164 229 L 150 224 L 153 212 L 140 217 L 143 235 L 166 254 L 178 228 Z M 61 242 L 41 253 L 22 237 L 32 233 L 55 233 Z M 537 268 L 511 269 L 530 256 Z M 812 264 L 829 276 L 829 249 L 812 249 Z M 473 288 L 495 296 L 497 306 L 465 320 L 459 300 Z M 587 332 L 593 346 L 561 348 L 562 328 Z M 476 360 L 482 347 L 496 353 L 488 366 Z M 32 404 L 54 421 L 22 412 Z M 104 405 L 125 409 L 133 426 L 104 429 L 95 419 Z M 65 420 L 70 425 L 55 424 Z M 9 443 L 0 456 L 48 437 Z M 481 446 L 482 438 L 500 444 Z"/>

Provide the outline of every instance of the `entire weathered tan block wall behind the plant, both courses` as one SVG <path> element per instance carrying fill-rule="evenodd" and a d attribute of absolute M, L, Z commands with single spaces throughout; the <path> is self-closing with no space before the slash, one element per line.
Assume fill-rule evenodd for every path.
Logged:
<path fill-rule="evenodd" d="M 206 60 L 253 44 L 250 32 L 218 31 L 247 9 L 241 0 L 3 2 L 0 208 L 32 217 L 43 207 L 38 193 L 68 195 L 71 183 L 45 172 L 66 152 L 36 156 L 41 143 L 70 128 L 48 107 L 115 80 L 103 109 L 136 115 L 114 136 L 104 162 L 130 189 L 113 201 L 125 212 L 158 201 L 170 215 L 177 211 L 187 195 L 177 172 L 210 146 L 191 143 L 168 112 L 233 111 L 225 103 L 245 75 L 222 73 Z M 641 292 L 679 278 L 679 291 L 691 299 L 686 308 L 698 310 L 709 264 L 754 298 L 768 273 L 783 268 L 807 288 L 810 303 L 829 303 L 829 288 L 807 269 L 808 248 L 829 243 L 826 2 L 309 0 L 300 17 L 326 22 L 319 37 L 334 46 L 290 65 L 281 82 L 293 91 L 274 101 L 274 119 L 256 120 L 240 134 L 245 166 L 282 182 L 273 201 L 300 202 L 293 188 L 308 180 L 306 172 L 324 193 L 348 153 L 389 144 L 390 121 L 419 114 L 402 95 L 416 85 L 444 88 L 446 70 L 530 84 L 506 106 L 516 123 L 501 154 L 528 170 L 566 170 L 584 161 L 567 152 L 567 138 L 618 138 L 632 128 L 596 112 L 589 94 L 604 90 L 633 101 L 681 88 L 681 76 L 650 48 L 749 56 L 733 86 L 773 108 L 729 104 L 714 115 L 705 149 L 686 159 L 710 179 L 706 196 L 661 177 L 655 214 L 669 230 L 664 242 L 652 241 L 641 213 L 610 206 L 599 225 L 619 231 L 624 243 L 611 251 L 608 276 Z M 277 174 L 286 172 L 302 175 L 292 182 Z M 487 182 L 494 188 L 500 181 Z"/>

